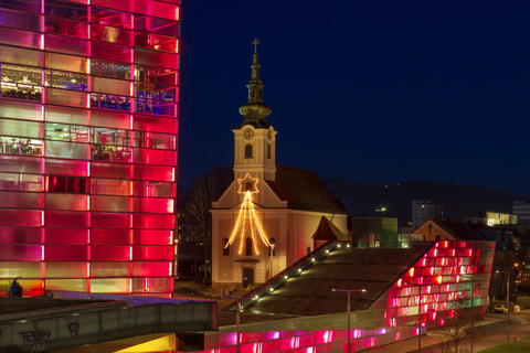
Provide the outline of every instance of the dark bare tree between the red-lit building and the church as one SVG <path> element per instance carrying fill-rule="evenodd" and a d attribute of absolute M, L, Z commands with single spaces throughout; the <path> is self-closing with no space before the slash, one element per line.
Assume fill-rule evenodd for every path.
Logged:
<path fill-rule="evenodd" d="M 204 284 L 208 280 L 208 264 L 211 264 L 212 247 L 212 202 L 216 201 L 234 180 L 231 165 L 212 165 L 208 172 L 199 175 L 187 192 L 184 213 L 195 244 L 204 247 Z M 197 247 L 195 247 L 197 248 Z"/>

